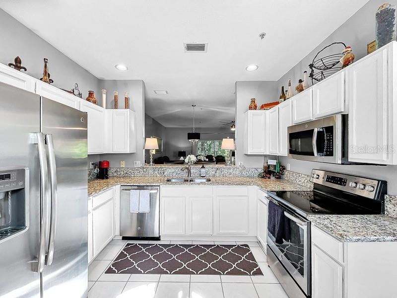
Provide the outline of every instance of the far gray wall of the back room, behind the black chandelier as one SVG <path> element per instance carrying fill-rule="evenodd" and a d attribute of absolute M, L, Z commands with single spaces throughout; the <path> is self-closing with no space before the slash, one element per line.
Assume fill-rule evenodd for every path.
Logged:
<path fill-rule="evenodd" d="M 193 132 L 193 128 L 167 127 L 165 130 L 165 154 L 171 160 L 179 159 L 178 151 L 185 150 L 186 154 L 191 154 L 192 146 L 188 141 L 188 133 Z M 222 140 L 227 137 L 234 139 L 234 132 L 230 128 L 196 128 L 195 132 L 201 133 L 201 140 Z M 197 147 L 193 146 L 193 154 L 197 155 Z"/>

